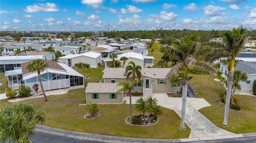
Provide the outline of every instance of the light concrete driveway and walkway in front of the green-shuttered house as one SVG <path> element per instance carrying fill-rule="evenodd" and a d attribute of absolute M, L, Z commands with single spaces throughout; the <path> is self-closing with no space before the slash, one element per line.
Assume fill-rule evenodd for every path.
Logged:
<path fill-rule="evenodd" d="M 135 104 L 135 101 L 139 98 L 140 97 L 132 97 L 132 104 Z M 158 100 L 158 105 L 174 110 L 181 117 L 182 98 L 168 97 L 165 93 L 154 93 L 153 98 Z M 124 100 L 129 103 L 129 97 L 124 97 Z M 218 128 L 204 115 L 198 112 L 199 109 L 207 106 L 211 105 L 203 98 L 187 98 L 185 122 L 191 129 L 189 138 L 234 136 L 234 133 Z"/>

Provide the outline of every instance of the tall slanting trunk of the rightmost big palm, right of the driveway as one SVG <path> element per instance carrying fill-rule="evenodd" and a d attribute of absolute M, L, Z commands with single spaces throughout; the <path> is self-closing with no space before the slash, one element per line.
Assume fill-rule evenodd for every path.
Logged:
<path fill-rule="evenodd" d="M 229 113 L 229 105 L 230 105 L 230 95 L 231 95 L 231 90 L 232 90 L 232 86 L 233 86 L 234 65 L 235 65 L 235 59 L 232 59 L 230 71 L 228 72 L 225 114 L 224 114 L 224 120 L 222 123 L 222 125 L 225 127 L 228 127 L 228 113 Z"/>

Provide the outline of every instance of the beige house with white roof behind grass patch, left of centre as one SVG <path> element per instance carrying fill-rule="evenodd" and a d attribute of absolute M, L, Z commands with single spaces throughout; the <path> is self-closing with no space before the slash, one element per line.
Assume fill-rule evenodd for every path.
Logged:
<path fill-rule="evenodd" d="M 90 64 L 90 68 L 98 68 L 101 62 L 101 54 L 95 52 L 86 52 L 82 54 L 70 54 L 59 58 L 59 62 L 70 67 L 75 67 L 76 63 L 82 62 Z"/>

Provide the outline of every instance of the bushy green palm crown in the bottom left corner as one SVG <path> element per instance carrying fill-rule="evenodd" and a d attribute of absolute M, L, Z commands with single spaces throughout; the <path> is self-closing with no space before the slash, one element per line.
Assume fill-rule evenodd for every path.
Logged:
<path fill-rule="evenodd" d="M 18 103 L 0 111 L 0 142 L 31 142 L 37 123 L 45 121 L 45 114 L 32 104 Z"/>

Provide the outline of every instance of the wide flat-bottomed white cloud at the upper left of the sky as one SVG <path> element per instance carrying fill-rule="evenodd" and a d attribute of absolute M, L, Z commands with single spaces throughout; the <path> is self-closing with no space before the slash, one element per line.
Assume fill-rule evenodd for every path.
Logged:
<path fill-rule="evenodd" d="M 24 10 L 26 12 L 55 12 L 59 11 L 55 3 L 45 3 L 45 4 L 34 4 L 28 5 L 27 8 Z"/>

